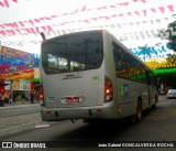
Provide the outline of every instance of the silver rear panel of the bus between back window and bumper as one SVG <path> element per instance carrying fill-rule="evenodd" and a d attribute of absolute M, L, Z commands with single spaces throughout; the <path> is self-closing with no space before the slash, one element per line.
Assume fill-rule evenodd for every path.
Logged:
<path fill-rule="evenodd" d="M 75 108 L 102 105 L 105 77 L 100 69 L 45 76 L 43 78 L 45 82 L 43 85 L 46 87 L 44 89 L 45 106 L 47 108 Z M 76 78 L 66 78 L 69 75 Z M 65 100 L 69 97 L 78 97 L 80 100 L 79 103 Z"/>

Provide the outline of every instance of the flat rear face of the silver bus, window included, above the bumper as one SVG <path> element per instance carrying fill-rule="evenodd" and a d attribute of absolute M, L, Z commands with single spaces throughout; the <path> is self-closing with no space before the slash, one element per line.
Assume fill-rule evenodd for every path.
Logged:
<path fill-rule="evenodd" d="M 102 33 L 65 35 L 43 43 L 43 87 L 46 108 L 103 104 Z"/>

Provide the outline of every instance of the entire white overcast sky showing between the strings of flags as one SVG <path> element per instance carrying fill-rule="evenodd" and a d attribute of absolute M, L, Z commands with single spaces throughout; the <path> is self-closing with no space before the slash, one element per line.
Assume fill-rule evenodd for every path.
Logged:
<path fill-rule="evenodd" d="M 152 34 L 157 34 L 157 29 L 165 29 L 168 25 L 168 22 L 174 20 L 172 14 L 175 12 L 169 11 L 166 6 L 176 3 L 176 0 L 0 0 L 0 3 L 4 4 L 4 1 L 8 1 L 9 6 L 0 7 L 0 24 L 25 22 L 43 17 L 59 15 L 59 18 L 55 18 L 52 21 L 42 22 L 42 25 L 57 24 L 56 26 L 53 26 L 55 32 L 48 34 L 48 37 L 56 36 L 57 33 L 64 34 L 69 29 L 75 29 L 75 31 L 77 31 L 81 28 L 89 29 L 90 26 L 101 26 L 113 32 L 119 39 L 128 37 L 128 40 L 123 40 L 128 46 L 144 45 L 146 43 L 166 43 L 165 41 L 161 41 L 161 39 L 151 36 L 153 36 Z M 120 4 L 124 2 L 129 2 L 128 7 Z M 117 6 L 118 3 L 119 6 L 116 9 L 110 7 Z M 95 9 L 103 6 L 108 7 L 102 10 Z M 162 9 L 160 10 L 160 7 L 165 7 L 164 12 L 161 12 Z M 156 9 L 152 11 L 154 8 Z M 88 9 L 91 9 L 91 11 L 88 11 Z M 144 13 L 141 13 L 142 10 L 147 10 L 146 17 Z M 63 13 L 74 11 L 77 12 L 72 15 L 62 15 Z M 134 13 L 134 11 L 136 14 L 132 14 L 131 17 L 128 17 L 127 14 L 124 18 L 119 17 L 113 19 L 112 17 L 112 14 L 127 12 Z M 140 12 L 140 15 L 138 15 L 136 11 Z M 108 15 L 111 15 L 110 20 L 91 20 L 90 23 L 78 22 L 79 20 L 90 20 L 92 18 Z M 76 23 L 59 25 L 63 22 L 70 22 L 73 20 L 76 21 Z M 35 28 L 36 25 L 38 24 L 34 24 L 32 28 Z M 29 25 L 28 28 L 31 26 Z M 8 30 L 11 29 L 9 28 Z M 147 31 L 150 31 L 148 35 L 146 35 Z M 143 34 L 145 39 L 143 39 Z M 135 36 L 142 39 L 135 40 Z M 148 39 L 146 39 L 146 36 L 148 36 Z M 135 40 L 135 42 L 131 43 L 132 40 Z M 13 36 L 0 36 L 0 41 L 1 44 L 6 46 L 31 53 L 40 53 L 42 37 L 38 34 L 16 34 Z"/>

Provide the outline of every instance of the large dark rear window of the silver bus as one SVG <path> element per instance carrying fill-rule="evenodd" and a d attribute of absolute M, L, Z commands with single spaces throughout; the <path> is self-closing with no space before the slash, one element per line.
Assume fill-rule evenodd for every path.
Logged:
<path fill-rule="evenodd" d="M 102 34 L 98 32 L 58 36 L 42 45 L 42 66 L 46 74 L 96 69 L 102 58 Z"/>

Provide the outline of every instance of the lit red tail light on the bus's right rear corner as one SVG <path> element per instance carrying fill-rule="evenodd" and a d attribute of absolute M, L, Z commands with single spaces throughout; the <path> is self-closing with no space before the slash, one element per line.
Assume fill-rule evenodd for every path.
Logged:
<path fill-rule="evenodd" d="M 105 103 L 109 103 L 113 99 L 113 88 L 110 78 L 105 78 Z"/>

